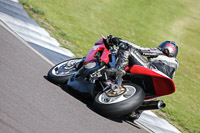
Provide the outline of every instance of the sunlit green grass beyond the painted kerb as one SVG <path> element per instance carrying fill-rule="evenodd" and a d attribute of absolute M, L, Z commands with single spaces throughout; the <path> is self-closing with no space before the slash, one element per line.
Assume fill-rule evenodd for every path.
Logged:
<path fill-rule="evenodd" d="M 166 119 L 183 132 L 200 132 L 199 0 L 20 0 L 63 47 L 85 56 L 99 34 L 144 47 L 179 45 L 176 92 L 161 98 Z"/>

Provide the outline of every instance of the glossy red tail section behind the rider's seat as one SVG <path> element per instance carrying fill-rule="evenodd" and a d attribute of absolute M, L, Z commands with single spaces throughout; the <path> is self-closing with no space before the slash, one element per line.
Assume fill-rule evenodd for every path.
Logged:
<path fill-rule="evenodd" d="M 169 95 L 175 92 L 176 90 L 173 80 L 158 70 L 148 69 L 142 66 L 134 65 L 130 69 L 130 72 L 134 74 L 148 75 L 152 77 L 153 85 L 156 91 L 156 96 L 154 97 Z"/>

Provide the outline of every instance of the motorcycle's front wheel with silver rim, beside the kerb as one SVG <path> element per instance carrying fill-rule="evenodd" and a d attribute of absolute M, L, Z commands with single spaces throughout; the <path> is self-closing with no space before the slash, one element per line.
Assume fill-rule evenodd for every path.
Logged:
<path fill-rule="evenodd" d="M 80 67 L 81 61 L 82 58 L 74 58 L 55 65 L 48 72 L 48 80 L 55 84 L 65 84 L 77 71 L 77 67 Z"/>

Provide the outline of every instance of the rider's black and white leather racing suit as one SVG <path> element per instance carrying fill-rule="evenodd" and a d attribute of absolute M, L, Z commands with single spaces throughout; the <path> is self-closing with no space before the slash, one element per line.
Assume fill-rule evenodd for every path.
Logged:
<path fill-rule="evenodd" d="M 168 57 L 158 48 L 144 48 L 121 40 L 116 68 L 124 70 L 128 64 L 131 66 L 140 65 L 146 68 L 157 69 L 171 79 L 173 79 L 175 71 L 178 68 L 176 58 Z"/>

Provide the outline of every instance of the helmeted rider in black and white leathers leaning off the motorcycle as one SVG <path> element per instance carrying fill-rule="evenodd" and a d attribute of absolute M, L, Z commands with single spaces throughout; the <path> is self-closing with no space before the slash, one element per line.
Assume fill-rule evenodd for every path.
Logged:
<path fill-rule="evenodd" d="M 165 41 L 157 48 L 143 48 L 121 40 L 121 38 L 108 35 L 106 42 L 109 45 L 119 45 L 116 69 L 124 71 L 128 64 L 141 65 L 146 68 L 158 69 L 173 79 L 178 68 L 178 61 L 176 60 L 178 46 L 173 41 Z"/>

